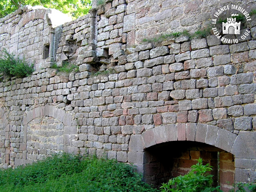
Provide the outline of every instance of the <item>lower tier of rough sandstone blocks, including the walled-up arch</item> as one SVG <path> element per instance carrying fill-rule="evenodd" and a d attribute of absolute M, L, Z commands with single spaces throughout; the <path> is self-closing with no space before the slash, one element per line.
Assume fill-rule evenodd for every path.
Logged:
<path fill-rule="evenodd" d="M 116 66 L 116 70 L 122 67 L 116 74 L 65 76 L 48 68 L 1 82 L 2 116 L 6 116 L 1 129 L 2 166 L 40 160 L 58 150 L 143 164 L 135 158 L 138 152 L 175 140 L 216 146 L 234 154 L 236 161 L 255 159 L 256 61 L 250 56 L 255 40 L 207 48 L 200 46 L 201 41 L 207 43 L 207 39 L 180 42 L 196 45 L 197 50 L 177 54 L 170 54 L 171 45 L 130 48 L 127 57 L 147 50 L 151 55 Z M 244 43 L 247 51 L 232 51 Z M 223 46 L 225 54 L 191 59 L 193 52 Z M 222 64 L 220 56 L 230 61 Z M 252 174 L 250 166 L 236 172 L 247 169 Z M 242 178 L 249 179 L 250 175 Z"/>

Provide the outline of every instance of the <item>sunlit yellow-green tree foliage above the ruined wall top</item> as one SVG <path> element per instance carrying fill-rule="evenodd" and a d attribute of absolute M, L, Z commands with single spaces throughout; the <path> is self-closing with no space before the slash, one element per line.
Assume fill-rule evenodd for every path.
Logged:
<path fill-rule="evenodd" d="M 0 18 L 25 5 L 55 8 L 73 18 L 78 18 L 88 13 L 91 8 L 91 0 L 0 0 Z"/>

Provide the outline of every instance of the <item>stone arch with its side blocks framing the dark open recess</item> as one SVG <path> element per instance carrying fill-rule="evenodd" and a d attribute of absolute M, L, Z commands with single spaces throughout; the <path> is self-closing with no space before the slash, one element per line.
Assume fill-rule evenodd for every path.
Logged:
<path fill-rule="evenodd" d="M 137 171 L 142 173 L 144 177 L 146 176 L 145 180 L 147 180 L 147 174 L 151 169 L 154 171 L 156 168 L 156 165 L 150 163 L 152 159 L 151 146 L 167 142 L 174 144 L 175 141 L 201 142 L 219 148 L 223 150 L 222 154 L 229 156 L 229 160 L 226 160 L 226 157 L 222 160 L 225 164 L 228 163 L 227 165 L 233 164 L 234 170 L 231 170 L 231 176 L 234 176 L 235 182 L 248 182 L 251 177 L 253 178 L 250 175 L 252 173 L 249 173 L 248 170 L 256 162 L 255 138 L 256 131 L 239 131 L 238 134 L 234 134 L 218 126 L 200 123 L 162 125 L 146 130 L 142 134 L 132 134 L 128 145 L 127 160 L 129 163 L 133 163 L 137 167 Z M 225 180 L 226 177 L 224 176 L 223 179 Z M 222 184 L 222 187 L 225 188 L 226 183 L 222 182 Z M 226 189 L 226 191 L 228 190 Z"/>

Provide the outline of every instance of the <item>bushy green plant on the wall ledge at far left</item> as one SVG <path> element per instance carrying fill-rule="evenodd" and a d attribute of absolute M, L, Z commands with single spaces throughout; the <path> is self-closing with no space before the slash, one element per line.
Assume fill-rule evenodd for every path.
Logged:
<path fill-rule="evenodd" d="M 4 76 L 23 78 L 34 72 L 34 64 L 28 65 L 25 60 L 16 59 L 14 54 L 9 54 L 6 50 L 0 57 L 0 73 Z"/>

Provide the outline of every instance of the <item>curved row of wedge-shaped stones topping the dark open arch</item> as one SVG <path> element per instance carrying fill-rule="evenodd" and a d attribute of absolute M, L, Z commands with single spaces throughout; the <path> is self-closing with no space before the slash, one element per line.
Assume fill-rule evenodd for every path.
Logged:
<path fill-rule="evenodd" d="M 196 141 L 231 153 L 236 137 L 237 134 L 218 126 L 200 123 L 169 124 L 142 133 L 145 148 L 169 141 Z"/>

